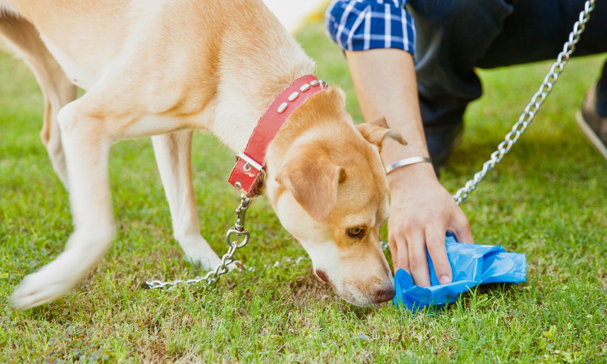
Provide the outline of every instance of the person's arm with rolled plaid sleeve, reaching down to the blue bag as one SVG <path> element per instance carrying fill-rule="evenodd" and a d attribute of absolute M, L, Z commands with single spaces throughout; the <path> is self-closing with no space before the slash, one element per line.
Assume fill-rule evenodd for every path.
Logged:
<path fill-rule="evenodd" d="M 327 10 L 327 32 L 345 50 L 365 120 L 386 116 L 408 146 L 386 140 L 385 165 L 407 157 L 429 157 L 419 113 L 413 63 L 415 29 L 402 7 L 378 1 L 334 1 Z M 381 5 L 381 6 L 380 6 Z M 390 19 L 390 26 L 386 26 Z M 400 20 L 399 20 L 400 19 Z M 390 29 L 390 33 L 386 30 Z M 466 216 L 438 182 L 432 165 L 413 164 L 388 175 L 391 217 L 388 243 L 395 271 L 405 269 L 416 284 L 429 286 L 426 249 L 441 283 L 452 281 L 445 233 L 472 242 Z"/>

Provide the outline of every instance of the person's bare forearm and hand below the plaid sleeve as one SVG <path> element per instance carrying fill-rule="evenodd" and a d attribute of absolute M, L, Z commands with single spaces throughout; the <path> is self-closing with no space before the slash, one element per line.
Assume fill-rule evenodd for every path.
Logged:
<path fill-rule="evenodd" d="M 408 157 L 429 157 L 419 114 L 413 57 L 398 49 L 346 52 L 348 66 L 365 120 L 385 116 L 392 129 L 409 143 L 392 140 L 382 144 L 385 166 Z M 393 170 L 390 186 L 388 244 L 395 270 L 405 269 L 419 286 L 429 286 L 426 249 L 440 283 L 452 281 L 445 234 L 473 242 L 466 215 L 436 178 L 430 163 Z"/>

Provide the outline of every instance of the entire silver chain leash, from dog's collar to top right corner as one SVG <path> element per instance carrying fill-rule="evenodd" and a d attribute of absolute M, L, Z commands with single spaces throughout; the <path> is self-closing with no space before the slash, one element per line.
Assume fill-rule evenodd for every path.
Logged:
<path fill-rule="evenodd" d="M 580 12 L 580 16 L 578 21 L 575 22 L 573 30 L 569 33 L 569 39 L 563 45 L 563 50 L 558 54 L 557 60 L 550 67 L 550 72 L 544 77 L 543 83 L 541 83 L 538 91 L 532 96 L 531 101 L 525 107 L 523 113 L 518 118 L 518 121 L 512 126 L 512 129 L 506 134 L 504 137 L 504 141 L 502 141 L 498 146 L 495 152 L 491 153 L 490 159 L 483 163 L 483 169 L 479 170 L 474 174 L 472 180 L 466 182 L 464 187 L 461 187 L 455 195 L 453 195 L 453 199 L 459 205 L 462 201 L 466 200 L 470 193 L 476 189 L 476 186 L 483 181 L 483 178 L 487 173 L 489 173 L 495 165 L 500 163 L 504 158 L 512 146 L 517 143 L 518 138 L 527 130 L 527 127 L 534 120 L 535 115 L 540 111 L 540 107 L 544 104 L 544 101 L 550 95 L 552 91 L 552 87 L 557 83 L 558 77 L 561 75 L 565 66 L 569 62 L 569 58 L 573 52 L 575 52 L 575 45 L 580 41 L 581 35 L 586 30 L 586 23 L 590 19 L 590 13 L 594 10 L 595 0 L 587 0 L 584 5 L 584 10 Z M 226 232 L 226 242 L 228 243 L 228 252 L 223 255 L 222 262 L 219 263 L 212 271 L 208 272 L 204 277 L 196 277 L 189 280 L 175 280 L 175 281 L 161 281 L 161 280 L 152 280 L 146 281 L 146 285 L 149 289 L 171 289 L 178 285 L 192 285 L 204 281 L 207 285 L 213 285 L 216 283 L 219 278 L 229 272 L 228 265 L 231 263 L 239 263 L 238 261 L 234 261 L 233 257 L 236 254 L 236 251 L 240 248 L 243 248 L 246 244 L 248 244 L 251 234 L 248 229 L 245 227 L 245 215 L 246 209 L 249 208 L 251 204 L 251 198 L 242 194 L 240 196 L 240 204 L 236 208 L 236 224 L 230 227 Z M 242 241 L 233 240 L 232 236 L 235 237 L 244 237 Z M 385 251 L 388 248 L 388 243 L 385 241 L 380 242 L 382 249 Z M 300 257 L 297 259 L 297 263 L 301 260 L 307 260 L 305 257 Z M 289 260 L 290 261 L 290 260 Z M 274 266 L 279 264 L 279 262 L 274 263 Z M 253 270 L 249 268 L 249 270 Z"/>

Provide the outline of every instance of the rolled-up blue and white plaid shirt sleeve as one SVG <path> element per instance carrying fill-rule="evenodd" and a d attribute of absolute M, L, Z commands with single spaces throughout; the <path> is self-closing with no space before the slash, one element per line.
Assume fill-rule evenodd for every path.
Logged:
<path fill-rule="evenodd" d="M 327 8 L 327 33 L 344 50 L 375 48 L 415 52 L 415 22 L 409 0 L 333 0 Z"/>

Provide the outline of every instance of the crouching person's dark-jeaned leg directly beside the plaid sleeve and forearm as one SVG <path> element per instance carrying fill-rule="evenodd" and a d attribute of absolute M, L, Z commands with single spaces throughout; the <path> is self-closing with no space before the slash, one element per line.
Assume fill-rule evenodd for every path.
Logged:
<path fill-rule="evenodd" d="M 416 73 L 426 140 L 441 166 L 461 134 L 467 104 L 481 96 L 474 72 L 514 8 L 503 0 L 412 0 Z"/>

